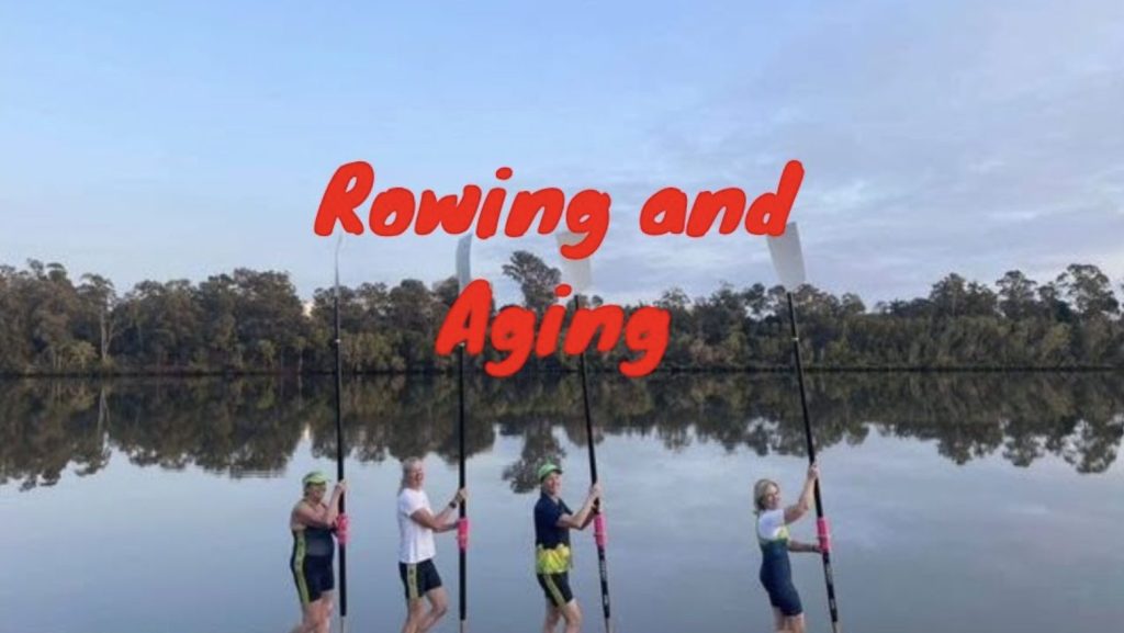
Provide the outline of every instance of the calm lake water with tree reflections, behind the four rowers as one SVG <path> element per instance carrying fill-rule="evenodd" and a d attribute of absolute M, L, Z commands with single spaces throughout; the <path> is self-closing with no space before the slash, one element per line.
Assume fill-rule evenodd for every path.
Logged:
<path fill-rule="evenodd" d="M 1121 374 L 818 374 L 812 415 L 845 631 L 1118 631 Z M 769 631 L 750 488 L 806 468 L 783 374 L 591 379 L 617 631 Z M 456 482 L 452 378 L 347 385 L 352 631 L 398 631 L 398 460 Z M 541 629 L 534 469 L 589 485 L 575 376 L 470 381 L 469 626 Z M 299 608 L 288 514 L 334 474 L 332 381 L 0 382 L 0 632 L 285 632 Z M 814 540 L 814 518 L 794 536 Z M 600 631 L 592 534 L 574 593 Z M 457 557 L 438 536 L 455 631 Z M 819 558 L 794 558 L 825 631 Z M 337 630 L 334 627 L 334 631 Z"/>

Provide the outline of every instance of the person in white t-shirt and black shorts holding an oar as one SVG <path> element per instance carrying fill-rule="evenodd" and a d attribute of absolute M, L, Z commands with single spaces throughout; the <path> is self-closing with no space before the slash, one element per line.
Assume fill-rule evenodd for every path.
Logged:
<path fill-rule="evenodd" d="M 422 460 L 404 461 L 402 485 L 398 492 L 398 573 L 406 588 L 407 606 L 402 633 L 425 633 L 448 611 L 448 597 L 433 564 L 437 553 L 433 534 L 456 530 L 456 519 L 450 519 L 450 515 L 465 496 L 464 489 L 457 490 L 448 505 L 434 516 L 429 497 L 422 489 L 424 482 Z M 429 600 L 428 612 L 423 597 Z"/>

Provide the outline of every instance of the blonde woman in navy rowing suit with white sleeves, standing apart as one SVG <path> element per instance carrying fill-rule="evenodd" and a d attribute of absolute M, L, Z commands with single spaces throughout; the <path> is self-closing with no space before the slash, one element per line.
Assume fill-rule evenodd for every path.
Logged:
<path fill-rule="evenodd" d="M 769 593 L 769 604 L 773 608 L 773 629 L 792 633 L 804 633 L 804 607 L 800 596 L 792 586 L 792 568 L 789 552 L 819 552 L 819 545 L 798 543 L 789 539 L 788 525 L 808 514 L 814 503 L 816 479 L 819 467 L 808 467 L 804 490 L 796 504 L 780 505 L 780 486 L 776 481 L 761 479 L 753 486 L 753 505 L 756 508 L 758 544 L 761 545 L 761 584 Z"/>

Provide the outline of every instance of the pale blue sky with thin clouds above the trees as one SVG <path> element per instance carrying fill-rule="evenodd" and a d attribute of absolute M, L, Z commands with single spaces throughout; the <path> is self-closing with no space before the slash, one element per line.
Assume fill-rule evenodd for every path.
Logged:
<path fill-rule="evenodd" d="M 230 6 L 236 4 L 236 6 Z M 763 238 L 652 238 L 640 205 L 806 177 L 810 281 L 868 302 L 950 271 L 1124 280 L 1124 3 L 3 2 L 0 262 L 120 290 L 235 266 L 332 281 L 320 195 L 593 188 L 607 300 L 772 283 Z M 610 6 L 606 6 L 610 4 Z M 455 237 L 347 241 L 342 279 L 434 281 Z M 515 248 L 477 243 L 495 278 Z M 502 292 L 510 288 L 499 286 Z"/>

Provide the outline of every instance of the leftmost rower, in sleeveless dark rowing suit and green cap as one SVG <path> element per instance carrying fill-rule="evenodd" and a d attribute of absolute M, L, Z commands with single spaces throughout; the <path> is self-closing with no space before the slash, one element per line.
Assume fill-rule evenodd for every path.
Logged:
<path fill-rule="evenodd" d="M 333 533 L 339 516 L 339 498 L 347 489 L 343 481 L 332 490 L 325 504 L 328 478 L 323 472 L 305 476 L 305 496 L 289 515 L 292 531 L 292 555 L 289 567 L 297 582 L 302 618 L 292 633 L 328 633 L 332 626 L 332 590 L 335 571 L 332 558 L 336 550 Z"/>

